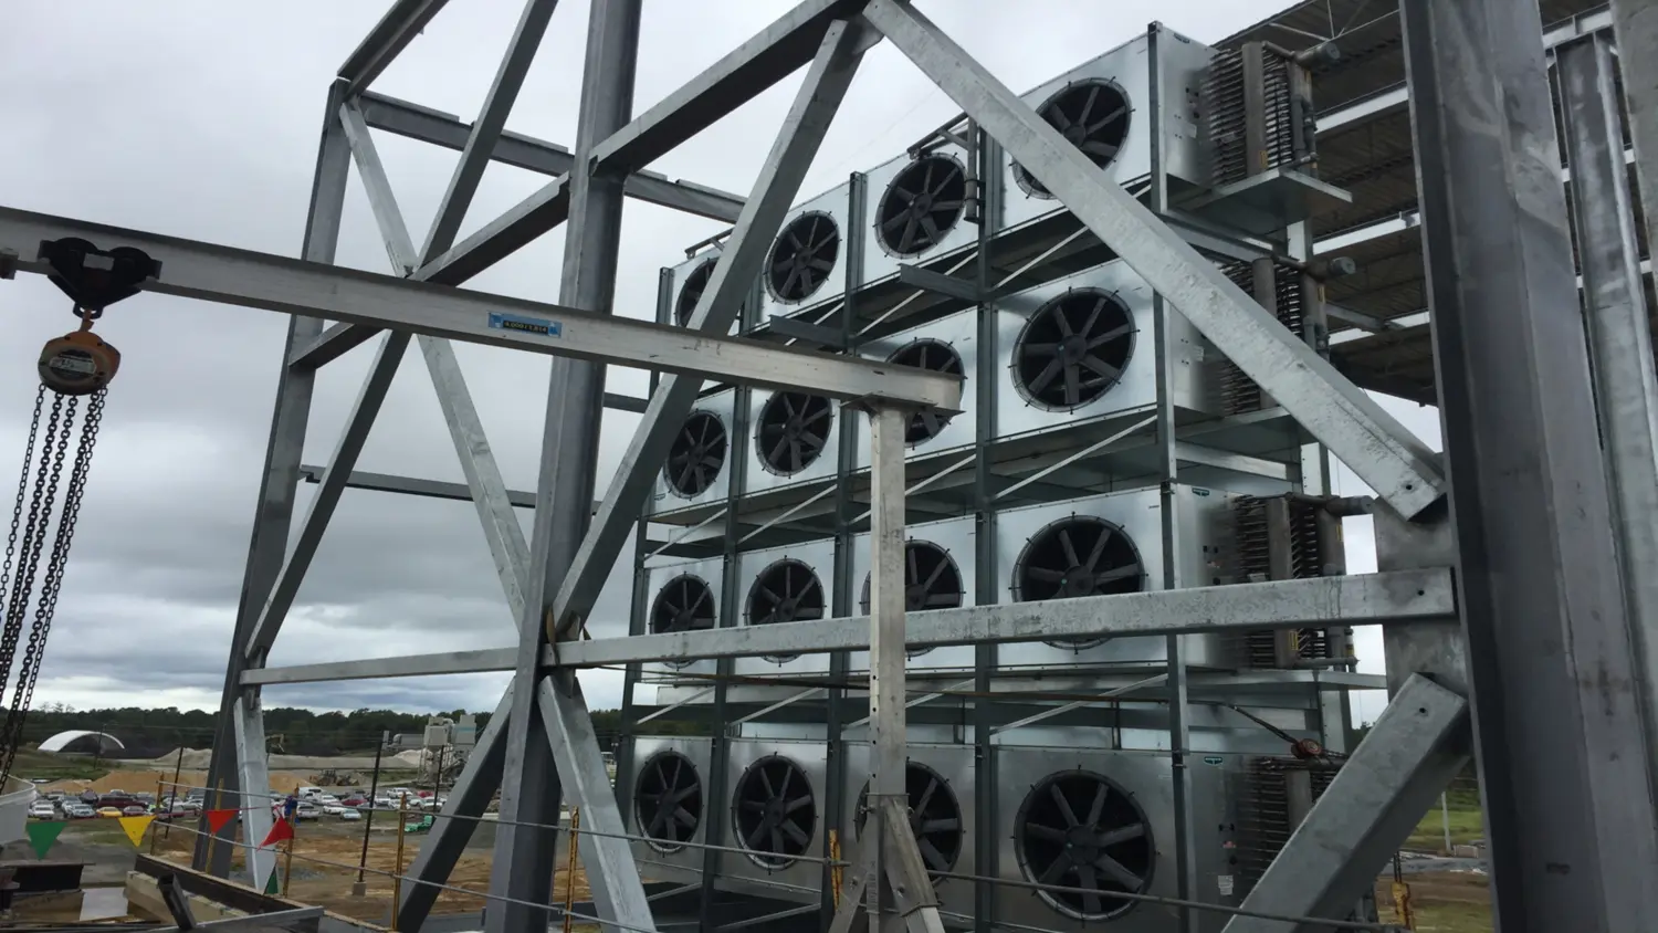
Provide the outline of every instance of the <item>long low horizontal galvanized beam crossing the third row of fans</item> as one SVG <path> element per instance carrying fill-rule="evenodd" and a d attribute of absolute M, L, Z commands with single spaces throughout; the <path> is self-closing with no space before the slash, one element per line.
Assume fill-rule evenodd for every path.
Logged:
<path fill-rule="evenodd" d="M 1451 618 L 1456 590 L 1447 568 L 1391 570 L 1351 577 L 1237 583 L 1159 593 L 1083 597 L 920 612 L 905 616 L 910 648 L 978 641 L 1045 641 L 1083 636 L 1137 636 L 1200 631 L 1378 625 Z M 673 635 L 635 635 L 565 641 L 547 648 L 544 663 L 595 668 L 633 661 L 753 658 L 869 650 L 869 618 L 832 618 Z M 242 683 L 320 683 L 478 671 L 511 671 L 516 648 L 446 651 L 327 665 L 264 668 Z M 557 651 L 557 656 L 554 656 Z"/>

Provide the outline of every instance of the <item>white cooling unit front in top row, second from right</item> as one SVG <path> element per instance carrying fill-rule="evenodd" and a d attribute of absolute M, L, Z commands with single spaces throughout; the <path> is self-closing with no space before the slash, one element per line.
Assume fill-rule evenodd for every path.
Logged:
<path fill-rule="evenodd" d="M 978 244 L 978 224 L 967 219 L 972 157 L 943 143 L 869 172 L 869 227 L 862 230 L 867 282 L 897 273 L 900 263 L 927 265 Z"/>

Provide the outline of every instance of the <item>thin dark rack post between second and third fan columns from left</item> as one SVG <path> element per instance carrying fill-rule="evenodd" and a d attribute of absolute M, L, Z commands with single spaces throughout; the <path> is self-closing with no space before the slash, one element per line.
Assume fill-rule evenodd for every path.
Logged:
<path fill-rule="evenodd" d="M 846 229 L 862 230 L 867 219 L 864 217 L 864 196 L 867 192 L 869 179 L 862 172 L 852 172 L 847 179 L 847 214 Z M 864 283 L 864 237 L 849 237 L 846 240 L 846 302 L 841 307 L 841 346 L 846 353 L 856 353 L 852 343 L 857 328 L 857 290 Z M 852 517 L 857 514 L 857 500 L 852 499 L 852 472 L 857 466 L 857 431 L 862 428 L 857 418 L 846 418 L 842 414 L 837 429 L 841 431 L 841 461 L 836 464 L 836 494 L 834 494 L 834 590 L 831 592 L 831 608 L 829 615 L 841 618 L 857 615 L 857 580 L 852 578 Z M 834 684 L 827 689 L 827 699 L 824 703 L 824 729 L 826 729 L 826 746 L 827 752 L 827 769 L 824 784 L 824 825 L 836 830 L 841 840 L 841 848 L 846 848 L 846 830 L 847 827 L 841 822 L 841 814 L 846 812 L 846 799 L 849 787 L 856 787 L 854 776 L 847 772 L 846 766 L 846 737 L 841 731 L 846 728 L 846 688 L 839 686 L 847 681 L 852 673 L 851 655 L 847 651 L 836 651 L 829 656 L 829 683 Z M 824 832 L 824 858 L 829 858 L 829 834 Z M 822 897 L 819 898 L 819 915 L 824 928 L 834 921 L 836 902 L 834 902 L 834 885 L 831 883 L 831 873 L 834 865 L 824 865 L 822 870 Z"/>

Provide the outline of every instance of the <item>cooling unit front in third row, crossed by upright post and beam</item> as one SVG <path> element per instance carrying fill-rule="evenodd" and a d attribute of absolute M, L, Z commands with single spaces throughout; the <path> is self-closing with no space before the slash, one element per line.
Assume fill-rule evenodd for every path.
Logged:
<path fill-rule="evenodd" d="M 904 529 L 904 610 L 927 612 L 977 605 L 973 573 L 973 519 L 945 519 Z M 852 595 L 857 613 L 869 615 L 869 534 L 852 539 Z M 905 670 L 912 674 L 972 671 L 972 645 L 917 648 Z M 869 651 L 847 656 L 852 671 L 869 671 Z"/>

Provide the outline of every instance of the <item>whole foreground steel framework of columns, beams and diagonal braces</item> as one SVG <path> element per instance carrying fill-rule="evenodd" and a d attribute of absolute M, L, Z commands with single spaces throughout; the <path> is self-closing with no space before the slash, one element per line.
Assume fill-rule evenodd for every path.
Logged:
<path fill-rule="evenodd" d="M 862 870 L 854 873 L 847 906 L 832 928 L 851 928 L 865 903 L 865 883 L 874 883 L 867 897 L 872 925 L 933 931 L 942 930 L 937 900 L 904 812 L 905 643 L 1379 623 L 1386 626 L 1393 703 L 1245 908 L 1340 916 L 1477 749 L 1504 930 L 1658 930 L 1650 741 L 1658 716 L 1643 706 L 1651 704 L 1658 665 L 1648 645 L 1653 577 L 1640 570 L 1658 560 L 1651 519 L 1658 502 L 1651 454 L 1658 393 L 1607 31 L 1559 51 L 1570 162 L 1580 177 L 1600 179 L 1578 184 L 1572 205 L 1588 295 L 1585 343 L 1572 313 L 1567 204 L 1557 166 L 1549 164 L 1557 136 L 1535 5 L 1401 3 L 1447 428 L 1441 457 L 1280 326 L 1154 209 L 1106 181 L 904 0 L 806 0 L 638 116 L 632 113 L 632 88 L 642 0 L 592 0 L 574 151 L 502 133 L 554 0 L 527 0 L 471 126 L 368 91 L 443 7 L 444 0 L 398 0 L 328 89 L 302 260 L 0 209 L 0 272 L 7 277 L 43 272 L 36 260 L 41 240 L 83 237 L 106 249 L 139 247 L 161 260 L 162 273 L 146 285 L 151 290 L 292 315 L 209 784 L 232 794 L 269 787 L 262 684 L 512 671 L 511 689 L 421 847 L 411 873 L 424 883 L 403 890 L 400 928 L 419 928 L 439 890 L 434 885 L 444 882 L 474 819 L 499 789 L 491 880 L 491 895 L 499 900 L 487 911 L 491 933 L 544 926 L 550 910 L 537 905 L 552 902 L 552 834 L 521 824 L 555 824 L 560 800 L 579 807 L 584 829 L 594 832 L 582 845 L 582 860 L 599 920 L 650 931 L 650 905 L 574 673 L 637 661 L 870 650 L 869 800 L 875 830 L 869 837 L 880 842 L 857 855 Z M 1631 101 L 1650 103 L 1658 88 L 1658 15 L 1638 0 L 1613 8 L 1622 46 L 1640 50 L 1622 58 L 1623 83 Z M 716 336 L 728 331 L 759 275 L 768 242 L 861 58 L 882 41 L 914 61 L 1172 310 L 1376 491 L 1378 573 L 987 605 L 924 613 L 907 623 L 904 434 L 915 409 L 953 409 L 960 379 Z M 746 197 L 647 171 L 658 156 L 799 68 L 807 70 L 806 81 Z M 1658 177 L 1648 171 L 1658 156 L 1651 108 L 1631 111 L 1636 161 L 1651 199 L 1658 191 Z M 438 217 L 419 240 L 391 197 L 371 126 L 401 128 L 461 149 Z M 552 181 L 456 242 L 491 159 Z M 386 244 L 390 275 L 330 265 L 353 161 Z M 604 313 L 613 297 L 623 197 L 734 224 L 685 326 Z M 1648 222 L 1653 215 L 1648 209 Z M 559 224 L 569 225 L 559 303 L 456 288 Z M 376 335 L 375 363 L 312 509 L 293 534 L 315 371 Z M 411 340 L 418 340 L 438 389 L 466 474 L 464 496 L 482 522 L 519 646 L 267 668 L 269 648 L 343 491 L 376 482 L 353 471 Z M 512 517 L 514 496 L 491 454 L 451 340 L 555 358 L 549 391 L 564 404 L 549 406 L 529 540 Z M 1545 348 L 1552 351 L 1547 356 Z M 607 363 L 655 370 L 662 378 L 642 406 L 608 398 L 602 393 Z M 642 514 L 650 477 L 708 378 L 806 383 L 869 413 L 869 616 L 577 640 Z M 643 423 L 594 509 L 604 404 L 642 409 Z M 1156 428 L 1172 476 L 1176 429 L 1167 406 L 1159 406 Z M 1454 487 L 1447 476 L 1456 477 Z M 1179 678 L 1172 686 L 1184 698 L 1184 668 L 1171 676 Z M 1176 764 L 1184 751 L 1174 749 Z M 269 819 L 260 809 L 244 812 L 255 878 L 270 870 L 272 853 L 252 845 L 265 835 L 269 825 L 260 824 Z M 1190 845 L 1189 832 L 1177 845 Z M 202 845 L 197 860 L 222 875 L 230 848 Z M 1234 933 L 1288 928 L 1260 916 L 1237 916 L 1227 926 Z"/>

